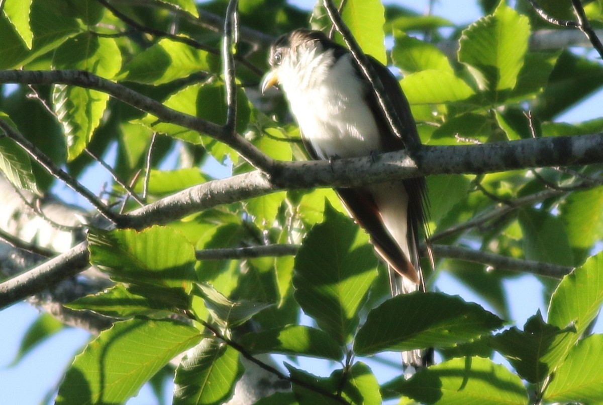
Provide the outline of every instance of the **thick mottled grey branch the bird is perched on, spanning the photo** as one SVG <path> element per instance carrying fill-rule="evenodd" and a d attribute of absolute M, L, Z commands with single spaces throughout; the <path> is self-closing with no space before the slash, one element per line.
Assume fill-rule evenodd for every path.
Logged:
<path fill-rule="evenodd" d="M 165 224 L 213 206 L 279 190 L 359 187 L 364 184 L 429 174 L 490 173 L 543 166 L 603 163 L 603 133 L 529 138 L 482 145 L 423 146 L 413 153 L 384 153 L 364 158 L 289 162 L 268 179 L 260 171 L 212 180 L 124 215 L 123 226 L 142 229 Z M 415 164 L 418 162 L 418 167 Z M 86 244 L 0 284 L 0 308 L 32 295 L 87 266 Z"/>

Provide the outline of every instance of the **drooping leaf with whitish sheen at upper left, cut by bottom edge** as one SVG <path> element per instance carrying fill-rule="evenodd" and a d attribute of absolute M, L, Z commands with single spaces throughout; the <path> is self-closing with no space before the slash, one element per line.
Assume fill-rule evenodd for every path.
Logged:
<path fill-rule="evenodd" d="M 203 339 L 176 369 L 174 405 L 223 404 L 243 375 L 239 352 L 217 339 Z"/>

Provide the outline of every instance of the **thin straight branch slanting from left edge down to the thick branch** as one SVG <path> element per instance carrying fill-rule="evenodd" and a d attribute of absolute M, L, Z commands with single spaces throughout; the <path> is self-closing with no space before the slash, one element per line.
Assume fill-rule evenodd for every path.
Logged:
<path fill-rule="evenodd" d="M 28 141 L 25 136 L 13 129 L 13 127 L 11 127 L 4 120 L 0 120 L 0 129 L 4 130 L 4 133 L 8 136 L 8 138 L 12 139 L 17 143 L 17 145 L 23 148 L 23 150 L 25 150 L 36 162 L 42 165 L 42 167 L 45 168 L 48 173 L 52 174 L 52 176 L 56 177 L 57 179 L 62 180 L 66 185 L 69 186 L 69 188 L 88 200 L 88 202 L 92 204 L 92 206 L 96 208 L 96 210 L 103 215 L 103 217 L 107 218 L 112 223 L 118 223 L 118 214 L 112 212 L 109 208 L 107 208 L 106 205 L 99 201 L 90 190 L 81 185 L 73 177 L 69 176 L 69 174 L 63 171 L 62 168 L 55 165 L 54 162 L 48 158 L 48 156 L 42 153 L 42 151 L 40 151 L 36 145 Z"/>

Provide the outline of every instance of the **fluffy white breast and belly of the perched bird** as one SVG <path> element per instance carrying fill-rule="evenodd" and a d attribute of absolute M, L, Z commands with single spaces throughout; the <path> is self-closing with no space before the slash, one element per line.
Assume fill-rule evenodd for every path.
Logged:
<path fill-rule="evenodd" d="M 290 77 L 280 77 L 301 132 L 321 159 L 381 151 L 379 132 L 364 101 L 365 90 L 356 77 L 352 56 L 343 56 L 331 66 L 332 59 L 327 51 L 314 59 L 310 74 L 291 69 Z"/>

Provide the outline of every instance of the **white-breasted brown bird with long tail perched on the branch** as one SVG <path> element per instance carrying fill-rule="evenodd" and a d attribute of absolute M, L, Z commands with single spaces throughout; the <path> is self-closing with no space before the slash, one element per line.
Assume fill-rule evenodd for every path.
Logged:
<path fill-rule="evenodd" d="M 373 57 L 368 63 L 400 118 L 401 136 L 388 124 L 352 53 L 321 31 L 298 29 L 280 36 L 270 47 L 268 63 L 262 93 L 280 86 L 312 159 L 356 158 L 420 144 L 398 80 Z M 425 178 L 335 191 L 388 264 L 393 295 L 425 291 L 419 261 L 421 232 L 428 235 Z"/>

